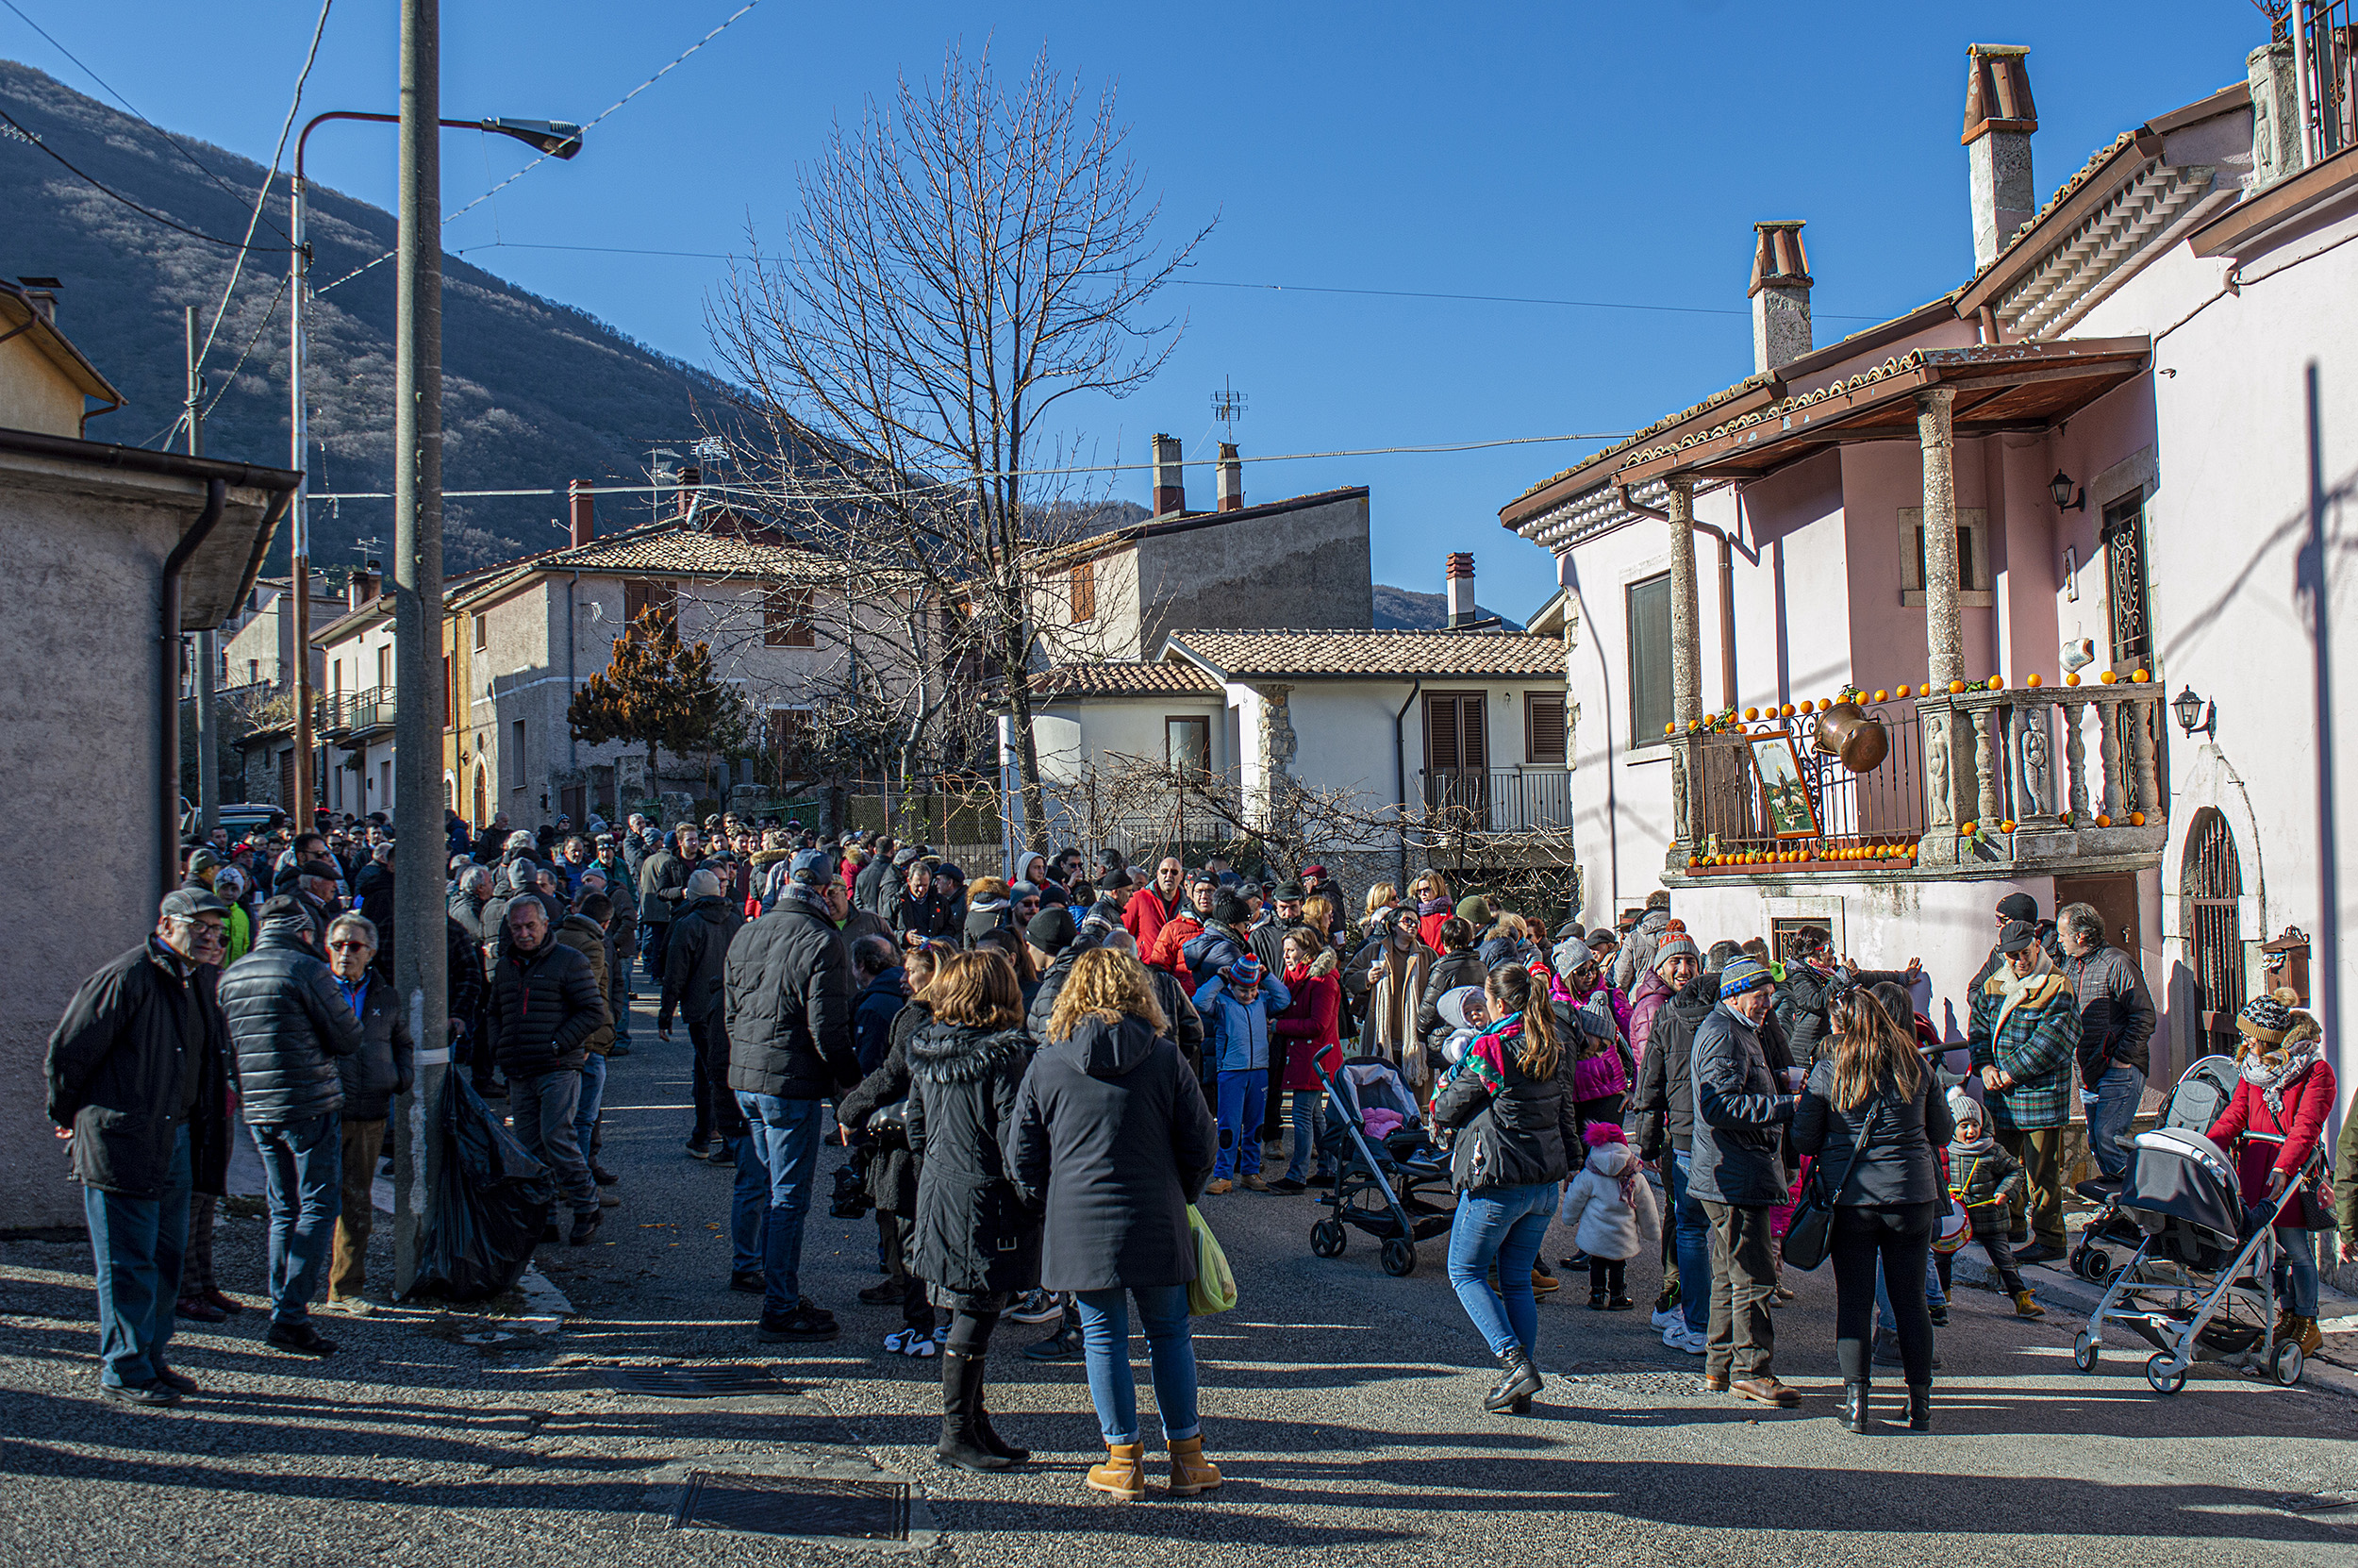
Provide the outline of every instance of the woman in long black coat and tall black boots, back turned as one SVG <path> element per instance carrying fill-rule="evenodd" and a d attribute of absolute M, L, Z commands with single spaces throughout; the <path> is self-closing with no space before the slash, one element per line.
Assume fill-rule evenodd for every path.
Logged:
<path fill-rule="evenodd" d="M 943 953 L 927 986 L 934 1021 L 908 1042 L 908 1146 L 917 1167 L 913 1273 L 957 1316 L 941 1356 L 941 1443 L 957 1469 L 1007 1469 L 1030 1452 L 983 1410 L 983 1351 L 1007 1297 L 1040 1283 L 1040 1219 L 1002 1167 L 1002 1134 L 1030 1066 L 1023 993 L 1002 953 Z"/>

